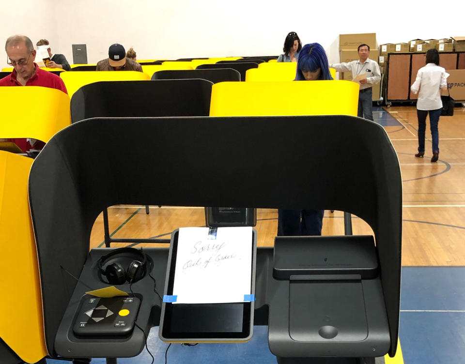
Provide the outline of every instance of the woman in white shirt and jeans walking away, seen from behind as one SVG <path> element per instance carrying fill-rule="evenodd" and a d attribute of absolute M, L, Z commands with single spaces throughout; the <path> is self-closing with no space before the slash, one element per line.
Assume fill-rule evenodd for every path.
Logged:
<path fill-rule="evenodd" d="M 433 157 L 431 162 L 439 158 L 439 132 L 437 124 L 441 115 L 442 102 L 440 90 L 447 90 L 447 77 L 449 74 L 439 67 L 439 53 L 436 49 L 428 49 L 426 52 L 426 65 L 418 70 L 417 78 L 410 87 L 417 94 L 418 117 L 418 153 L 417 158 L 423 158 L 425 154 L 425 129 L 426 116 L 430 114 L 431 138 L 433 141 Z"/>

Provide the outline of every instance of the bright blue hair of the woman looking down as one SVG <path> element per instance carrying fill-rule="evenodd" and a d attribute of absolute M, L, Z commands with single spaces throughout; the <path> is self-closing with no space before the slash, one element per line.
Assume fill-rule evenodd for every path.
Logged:
<path fill-rule="evenodd" d="M 310 43 L 302 47 L 297 60 L 297 72 L 295 73 L 294 81 L 305 81 L 302 70 L 315 72 L 321 68 L 321 80 L 333 79 L 329 72 L 328 58 L 326 57 L 325 49 L 319 43 Z"/>

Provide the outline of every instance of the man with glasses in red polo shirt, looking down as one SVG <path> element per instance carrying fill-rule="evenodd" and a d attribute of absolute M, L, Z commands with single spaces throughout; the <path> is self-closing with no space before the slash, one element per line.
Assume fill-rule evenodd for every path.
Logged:
<path fill-rule="evenodd" d="M 5 51 L 8 55 L 8 64 L 13 66 L 13 72 L 0 79 L 0 86 L 42 86 L 57 89 L 68 94 L 63 80 L 50 72 L 41 70 L 34 62 L 36 51 L 31 39 L 24 35 L 13 35 L 6 40 Z M 0 139 L 6 140 L 6 139 Z M 13 141 L 27 152 L 31 148 L 42 149 L 44 142 L 34 139 L 14 138 Z"/>

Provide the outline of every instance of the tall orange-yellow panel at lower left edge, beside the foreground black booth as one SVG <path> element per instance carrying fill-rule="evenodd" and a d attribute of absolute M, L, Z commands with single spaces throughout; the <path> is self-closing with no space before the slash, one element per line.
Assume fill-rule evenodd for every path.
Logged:
<path fill-rule="evenodd" d="M 31 158 L 0 151 L 0 337 L 23 361 L 36 363 L 47 355 L 47 347 L 29 212 L 31 164 Z"/>

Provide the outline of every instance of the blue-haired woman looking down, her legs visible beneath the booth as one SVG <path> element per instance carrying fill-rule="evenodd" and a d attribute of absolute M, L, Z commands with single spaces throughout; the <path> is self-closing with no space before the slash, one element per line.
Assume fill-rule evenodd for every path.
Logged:
<path fill-rule="evenodd" d="M 332 80 L 325 49 L 318 43 L 302 47 L 294 81 Z M 278 209 L 278 236 L 321 235 L 323 210 Z"/>

